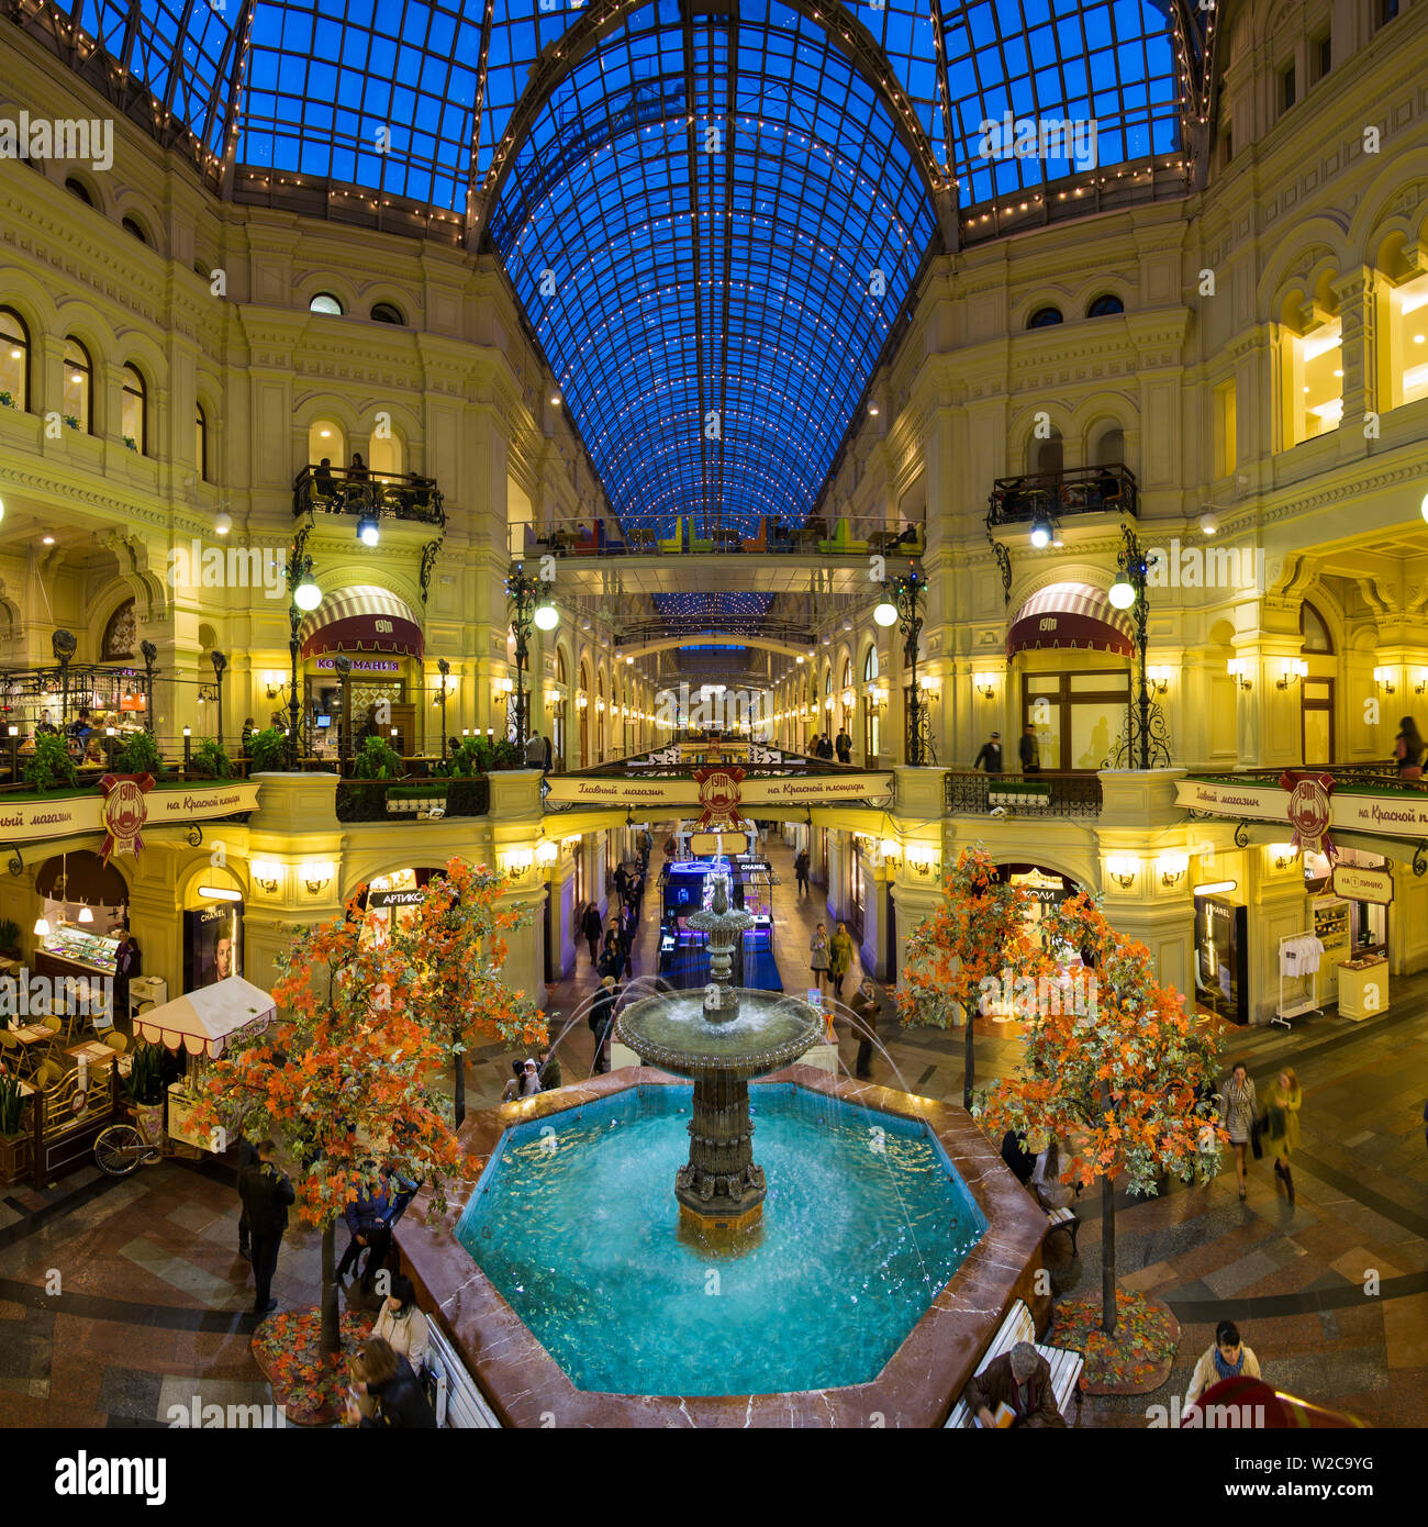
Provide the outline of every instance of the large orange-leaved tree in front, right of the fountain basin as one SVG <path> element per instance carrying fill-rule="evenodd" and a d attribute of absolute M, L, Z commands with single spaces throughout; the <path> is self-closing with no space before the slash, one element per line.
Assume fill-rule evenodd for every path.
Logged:
<path fill-rule="evenodd" d="M 1080 950 L 1048 1000 L 1025 1014 L 1020 1073 L 987 1096 L 993 1136 L 1052 1136 L 1071 1145 L 1063 1182 L 1101 1183 L 1101 1330 L 1116 1328 L 1113 1183 L 1153 1194 L 1158 1179 L 1214 1176 L 1220 1141 L 1210 1095 L 1220 1026 L 1187 1012 L 1161 985 L 1144 944 L 1116 933 L 1086 895 L 1065 901 L 1040 925 L 1046 948 Z"/>

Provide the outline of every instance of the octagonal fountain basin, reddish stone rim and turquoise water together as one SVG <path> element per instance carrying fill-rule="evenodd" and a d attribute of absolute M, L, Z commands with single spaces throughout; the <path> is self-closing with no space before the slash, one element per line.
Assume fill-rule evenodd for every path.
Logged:
<path fill-rule="evenodd" d="M 670 1193 L 687 1081 L 632 1067 L 467 1119 L 484 1170 L 397 1240 L 506 1425 L 945 1419 L 1034 1299 L 1045 1215 L 950 1104 L 805 1066 L 750 1101 L 768 1188 L 735 1241 Z"/>

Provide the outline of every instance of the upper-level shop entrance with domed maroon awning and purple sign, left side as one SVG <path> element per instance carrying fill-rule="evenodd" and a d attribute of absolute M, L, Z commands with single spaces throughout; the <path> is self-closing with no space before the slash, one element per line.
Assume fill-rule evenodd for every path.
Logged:
<path fill-rule="evenodd" d="M 302 621 L 298 635 L 304 715 L 312 721 L 316 753 L 336 753 L 344 725 L 353 739 L 348 751 L 356 750 L 367 725 L 405 756 L 425 747 L 417 727 L 425 638 L 415 614 L 396 594 L 365 585 L 339 589 Z M 345 718 L 338 654 L 351 661 Z"/>

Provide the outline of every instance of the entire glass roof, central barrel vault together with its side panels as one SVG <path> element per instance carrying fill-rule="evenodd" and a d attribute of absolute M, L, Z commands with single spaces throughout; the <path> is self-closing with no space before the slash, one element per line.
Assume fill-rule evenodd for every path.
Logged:
<path fill-rule="evenodd" d="M 156 127 L 186 124 L 214 163 L 458 215 L 493 194 L 492 240 L 612 505 L 634 524 L 689 515 L 704 534 L 811 507 L 932 244 L 938 182 L 967 206 L 1071 169 L 988 159 L 982 124 L 1094 119 L 1103 166 L 1173 151 L 1203 111 L 1211 12 L 75 0 L 47 14 L 57 38 L 69 23 L 95 38 L 151 92 Z M 910 107 L 901 134 L 893 95 Z"/>

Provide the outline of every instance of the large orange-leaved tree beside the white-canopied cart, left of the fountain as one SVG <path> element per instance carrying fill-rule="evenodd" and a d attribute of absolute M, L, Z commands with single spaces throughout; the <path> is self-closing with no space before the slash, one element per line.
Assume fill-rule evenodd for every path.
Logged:
<path fill-rule="evenodd" d="M 250 1139 L 278 1135 L 295 1162 L 298 1215 L 322 1231 L 322 1350 L 341 1350 L 334 1231 L 391 1167 L 425 1180 L 438 1209 L 461 1154 L 451 1106 L 434 1086 L 443 1049 L 415 993 L 363 915 L 359 887 L 341 918 L 296 931 L 278 957 L 279 1017 L 238 1034 L 208 1072 L 194 1121 L 208 1133 L 241 1118 Z"/>

